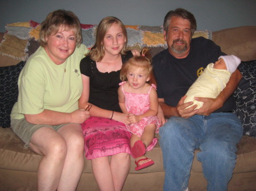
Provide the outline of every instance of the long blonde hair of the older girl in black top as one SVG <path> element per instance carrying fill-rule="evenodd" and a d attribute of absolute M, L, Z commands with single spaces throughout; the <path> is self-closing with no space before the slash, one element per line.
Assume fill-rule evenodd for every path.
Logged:
<path fill-rule="evenodd" d="M 121 50 L 121 54 L 126 53 L 126 45 L 127 45 L 127 32 L 125 29 L 125 26 L 119 20 L 118 18 L 115 18 L 114 16 L 107 16 L 101 20 L 101 22 L 98 24 L 97 31 L 96 31 L 96 42 L 90 52 L 88 53 L 88 56 L 93 61 L 101 61 L 104 57 L 105 51 L 104 46 L 102 45 L 102 42 L 104 40 L 104 37 L 106 35 L 106 32 L 108 32 L 108 29 L 112 26 L 113 23 L 117 23 L 123 31 L 123 35 L 126 39 L 125 45 L 123 46 L 123 49 Z"/>

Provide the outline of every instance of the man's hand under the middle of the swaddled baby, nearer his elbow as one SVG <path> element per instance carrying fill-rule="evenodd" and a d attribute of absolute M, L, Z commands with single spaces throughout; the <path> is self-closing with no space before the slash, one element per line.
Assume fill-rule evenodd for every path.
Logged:
<path fill-rule="evenodd" d="M 203 107 L 198 109 L 197 114 L 203 116 L 209 116 L 210 113 L 216 111 L 218 108 L 221 108 L 223 103 L 219 99 L 213 99 L 208 97 L 195 97 L 195 100 L 204 102 Z"/>

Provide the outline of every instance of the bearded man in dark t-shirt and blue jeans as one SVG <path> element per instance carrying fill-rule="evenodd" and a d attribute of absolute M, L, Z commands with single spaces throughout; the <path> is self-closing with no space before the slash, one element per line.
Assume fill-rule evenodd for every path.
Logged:
<path fill-rule="evenodd" d="M 191 12 L 169 11 L 164 18 L 168 49 L 153 58 L 159 103 L 164 116 L 170 117 L 160 128 L 165 191 L 188 190 L 196 148 L 200 148 L 197 159 L 203 165 L 207 190 L 227 190 L 236 164 L 236 144 L 242 137 L 241 122 L 230 112 L 234 105 L 231 95 L 241 79 L 238 70 L 216 99 L 197 97 L 197 101 L 204 102 L 203 107 L 185 109 L 192 104 L 184 104 L 188 88 L 208 63 L 225 55 L 211 40 L 191 39 L 195 30 L 196 20 Z"/>

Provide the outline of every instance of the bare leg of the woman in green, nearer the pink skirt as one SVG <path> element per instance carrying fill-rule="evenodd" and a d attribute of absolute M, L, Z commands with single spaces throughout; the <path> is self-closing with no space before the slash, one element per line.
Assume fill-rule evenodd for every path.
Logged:
<path fill-rule="evenodd" d="M 67 156 L 57 190 L 76 190 L 84 169 L 84 135 L 79 124 L 68 124 L 57 130 L 67 143 Z"/>

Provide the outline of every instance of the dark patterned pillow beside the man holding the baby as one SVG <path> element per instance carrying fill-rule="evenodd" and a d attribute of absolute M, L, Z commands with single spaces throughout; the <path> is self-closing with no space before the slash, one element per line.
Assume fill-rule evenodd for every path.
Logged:
<path fill-rule="evenodd" d="M 236 108 L 233 112 L 242 122 L 243 134 L 256 138 L 256 60 L 241 62 L 238 69 L 242 79 L 234 92 Z"/>

